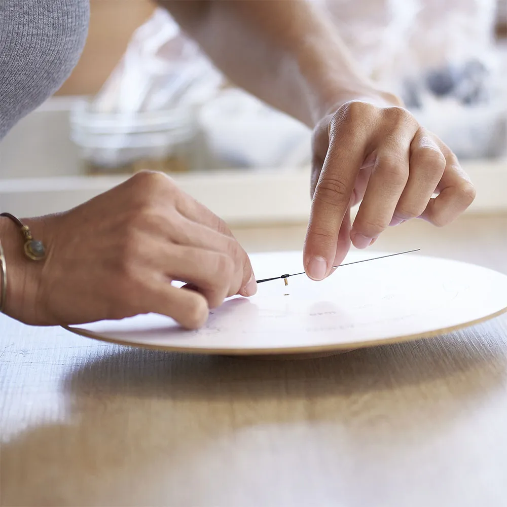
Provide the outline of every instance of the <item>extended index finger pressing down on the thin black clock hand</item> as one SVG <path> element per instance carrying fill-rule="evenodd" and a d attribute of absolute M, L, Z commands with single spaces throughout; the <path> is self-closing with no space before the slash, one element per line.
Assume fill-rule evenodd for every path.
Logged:
<path fill-rule="evenodd" d="M 329 274 L 338 233 L 365 158 L 366 132 L 361 135 L 347 128 L 350 123 L 345 120 L 335 117 L 330 122 L 328 153 L 312 199 L 303 263 L 307 275 L 314 280 Z"/>

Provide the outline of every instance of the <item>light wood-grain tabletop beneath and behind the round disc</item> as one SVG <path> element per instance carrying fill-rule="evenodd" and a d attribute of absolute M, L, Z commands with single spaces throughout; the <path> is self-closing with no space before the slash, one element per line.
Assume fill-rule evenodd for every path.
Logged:
<path fill-rule="evenodd" d="M 507 217 L 396 229 L 379 249 L 507 272 Z M 237 236 L 288 249 L 301 230 Z M 130 349 L 0 317 L 0 361 L 5 506 L 507 505 L 505 316 L 300 361 Z"/>

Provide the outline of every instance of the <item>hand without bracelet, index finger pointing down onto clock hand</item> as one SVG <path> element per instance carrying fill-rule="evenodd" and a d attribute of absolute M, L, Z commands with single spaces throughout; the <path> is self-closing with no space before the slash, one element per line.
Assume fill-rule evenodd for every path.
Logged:
<path fill-rule="evenodd" d="M 343 261 L 351 242 L 366 248 L 387 226 L 415 217 L 444 226 L 475 198 L 436 135 L 403 107 L 363 101 L 345 103 L 316 125 L 311 192 L 304 265 L 315 280 Z M 361 200 L 351 225 L 350 208 Z"/>

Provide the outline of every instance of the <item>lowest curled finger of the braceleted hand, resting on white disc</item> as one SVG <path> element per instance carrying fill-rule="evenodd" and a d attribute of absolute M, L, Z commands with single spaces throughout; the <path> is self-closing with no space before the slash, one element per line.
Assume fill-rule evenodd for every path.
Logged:
<path fill-rule="evenodd" d="M 187 329 L 198 329 L 209 315 L 206 298 L 198 292 L 176 288 L 168 281 L 153 282 L 143 298 L 139 313 L 158 313 L 173 318 Z"/>

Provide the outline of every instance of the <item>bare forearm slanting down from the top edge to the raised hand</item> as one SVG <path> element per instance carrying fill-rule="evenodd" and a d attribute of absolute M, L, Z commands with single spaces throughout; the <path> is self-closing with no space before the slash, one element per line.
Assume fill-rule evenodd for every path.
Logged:
<path fill-rule="evenodd" d="M 309 2 L 159 3 L 234 83 L 310 127 L 340 102 L 382 96 Z"/>

